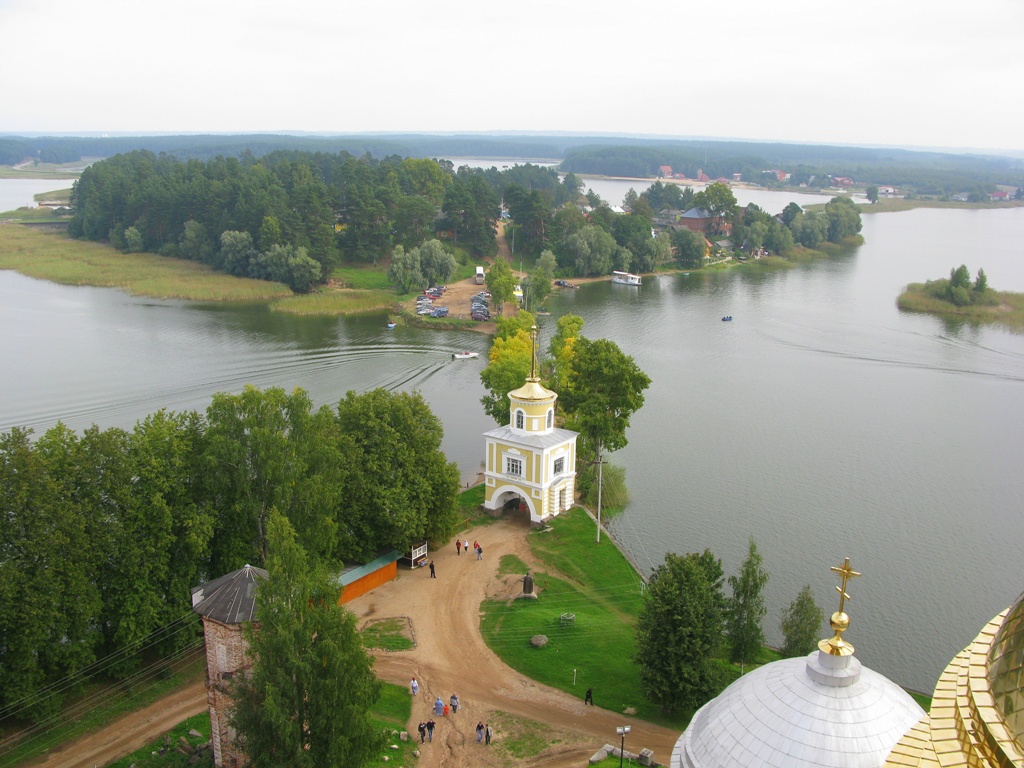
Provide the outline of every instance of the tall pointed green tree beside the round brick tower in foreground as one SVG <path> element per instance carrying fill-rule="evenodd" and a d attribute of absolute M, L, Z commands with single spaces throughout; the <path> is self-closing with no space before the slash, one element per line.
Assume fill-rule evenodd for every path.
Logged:
<path fill-rule="evenodd" d="M 359 768 L 384 734 L 371 722 L 380 697 L 373 659 L 338 588 L 311 566 L 288 519 L 269 521 L 269 575 L 259 585 L 258 625 L 246 629 L 249 674 L 234 678 L 231 725 L 253 768 Z"/>

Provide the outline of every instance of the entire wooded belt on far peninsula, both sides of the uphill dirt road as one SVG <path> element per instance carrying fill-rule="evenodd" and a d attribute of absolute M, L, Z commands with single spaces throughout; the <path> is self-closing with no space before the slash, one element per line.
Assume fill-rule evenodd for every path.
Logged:
<path fill-rule="evenodd" d="M 449 161 L 347 153 L 182 162 L 132 152 L 87 168 L 71 203 L 72 237 L 191 259 L 296 291 L 311 290 L 342 262 L 404 258 L 432 240 L 464 263 L 492 256 L 503 210 L 506 237 L 526 264 L 550 253 L 535 287 L 556 275 L 652 271 L 673 259 L 699 266 L 709 255 L 705 234 L 731 234 L 742 250 L 786 255 L 797 245 L 815 248 L 860 231 L 856 206 L 843 199 L 820 212 L 792 205 L 776 217 L 757 206 L 740 210 L 725 184 L 694 193 L 656 182 L 641 195 L 631 190 L 628 210 L 616 212 L 593 191 L 584 194 L 575 174 L 551 168 L 455 170 Z M 689 208 L 712 222 L 703 232 L 662 216 Z M 400 292 L 436 279 L 406 272 L 413 276 L 391 278 Z"/>

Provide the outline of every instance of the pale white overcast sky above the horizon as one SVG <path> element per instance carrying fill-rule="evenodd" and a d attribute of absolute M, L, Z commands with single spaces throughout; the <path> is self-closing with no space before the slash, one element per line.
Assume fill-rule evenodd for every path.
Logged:
<path fill-rule="evenodd" d="M 1022 0 L 0 0 L 0 132 L 1024 150 Z"/>

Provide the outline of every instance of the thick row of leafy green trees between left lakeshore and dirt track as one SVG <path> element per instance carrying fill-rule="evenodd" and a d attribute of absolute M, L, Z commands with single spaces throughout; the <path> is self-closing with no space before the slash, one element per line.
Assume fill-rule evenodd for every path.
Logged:
<path fill-rule="evenodd" d="M 446 538 L 441 435 L 418 394 L 253 388 L 131 431 L 0 434 L 0 718 L 57 712 L 96 659 L 128 677 L 195 643 L 191 588 L 264 564 L 271 510 L 335 567 Z"/>

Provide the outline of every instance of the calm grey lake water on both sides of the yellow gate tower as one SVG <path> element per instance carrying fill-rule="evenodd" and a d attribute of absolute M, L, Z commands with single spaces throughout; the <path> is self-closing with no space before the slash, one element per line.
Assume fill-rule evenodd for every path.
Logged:
<path fill-rule="evenodd" d="M 826 614 L 837 609 L 828 566 L 849 556 L 864 574 L 849 587 L 858 657 L 930 691 L 1024 587 L 1024 336 L 901 313 L 895 299 L 961 263 L 983 267 L 997 290 L 1024 291 L 1024 209 L 871 214 L 863 234 L 848 254 L 788 270 L 564 292 L 548 302 L 542 343 L 560 313 L 575 312 L 585 334 L 614 340 L 652 379 L 630 445 L 609 457 L 632 494 L 609 527 L 641 566 L 710 548 L 732 573 L 755 537 L 777 642 L 803 585 Z M 478 404 L 489 339 L 384 322 L 0 271 L 0 430 L 131 427 L 246 384 L 302 387 L 317 403 L 349 389 L 416 389 L 473 478 L 480 433 L 494 427 Z M 451 359 L 464 349 L 481 356 Z"/>

